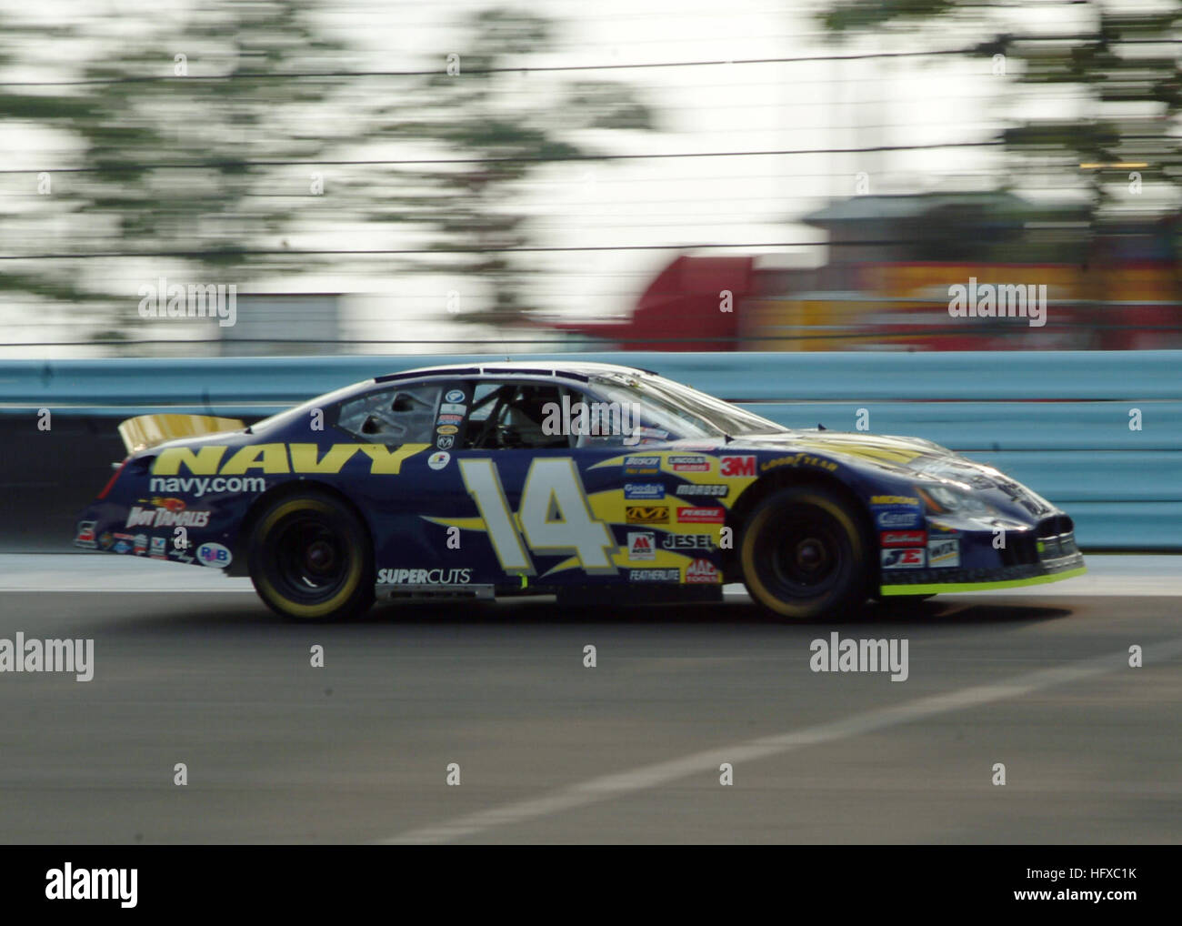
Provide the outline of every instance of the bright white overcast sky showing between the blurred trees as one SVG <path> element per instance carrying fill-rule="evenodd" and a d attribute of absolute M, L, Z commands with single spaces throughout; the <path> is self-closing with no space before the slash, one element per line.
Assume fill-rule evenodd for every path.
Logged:
<path fill-rule="evenodd" d="M 181 0 L 154 5 L 156 15 L 183 8 Z M 435 60 L 442 66 L 455 50 L 454 24 L 486 2 L 382 2 L 342 0 L 330 7 L 329 25 L 363 50 L 356 67 L 396 70 Z M 89 9 L 96 28 L 135 22 L 142 2 L 54 2 L 43 6 Z M 700 60 L 810 57 L 833 53 L 811 14 L 816 5 L 777 0 L 531 0 L 528 8 L 559 22 L 557 46 L 531 65 L 656 64 Z M 112 18 L 110 14 L 118 13 Z M 1070 30 L 1071 7 L 1033 5 L 993 15 L 1026 28 Z M 842 53 L 963 47 L 982 30 L 955 24 L 918 35 L 863 37 Z M 46 58 L 45 73 L 57 64 Z M 637 88 L 656 110 L 660 131 L 592 137 L 619 154 L 759 151 L 859 148 L 882 144 L 937 144 L 985 140 L 1007 115 L 1001 108 L 1005 78 L 986 58 L 905 58 L 840 63 L 722 64 L 597 72 Z M 577 75 L 584 77 L 586 75 Z M 539 92 L 548 75 L 521 77 L 521 92 Z M 543 89 L 544 90 L 544 89 Z M 1051 91 L 1033 104 L 1067 115 L 1071 93 Z M 45 136 L 0 128 L 0 144 L 13 160 L 38 156 Z M 981 188 L 998 179 L 998 154 L 988 149 L 934 148 L 871 155 L 719 156 L 573 163 L 547 168 L 524 194 L 540 244 L 563 247 L 658 245 L 658 251 L 572 252 L 539 255 L 552 271 L 538 286 L 556 312 L 605 318 L 626 313 L 651 277 L 694 244 L 821 241 L 794 221 L 831 197 L 851 195 L 858 171 L 869 174 L 871 193 Z M 331 190 L 332 174 L 326 171 Z M 293 247 L 323 246 L 323 229 L 291 235 Z M 375 244 L 372 231 L 338 234 L 331 246 Z M 409 240 L 409 239 L 408 239 Z M 413 246 L 413 245 L 411 245 Z M 818 247 L 735 247 L 708 253 L 773 252 L 795 263 L 824 260 Z M 376 265 L 371 265 L 378 268 Z M 134 294 L 154 267 L 121 266 L 108 283 Z M 260 290 L 368 291 L 378 302 L 349 305 L 346 334 L 390 337 L 443 336 L 452 323 L 444 298 L 448 278 L 395 278 L 374 273 L 317 273 L 296 279 L 259 280 Z M 134 303 L 131 304 L 134 310 Z M 26 334 L 34 331 L 26 329 Z M 19 339 L 32 339 L 20 337 Z M 11 355 L 11 351 L 6 351 Z M 38 351 L 34 351 L 37 354 Z"/>

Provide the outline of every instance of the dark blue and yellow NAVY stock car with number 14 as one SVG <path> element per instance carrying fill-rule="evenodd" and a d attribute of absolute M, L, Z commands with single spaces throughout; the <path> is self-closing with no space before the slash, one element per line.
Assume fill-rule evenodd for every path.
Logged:
<path fill-rule="evenodd" d="M 249 575 L 296 620 L 376 597 L 721 601 L 786 619 L 1084 572 L 1071 518 L 926 440 L 791 429 L 654 373 L 433 367 L 259 421 L 143 415 L 91 550 Z"/>

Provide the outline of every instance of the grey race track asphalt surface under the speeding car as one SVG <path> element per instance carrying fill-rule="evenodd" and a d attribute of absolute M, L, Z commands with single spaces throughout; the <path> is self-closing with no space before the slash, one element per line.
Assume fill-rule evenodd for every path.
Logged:
<path fill-rule="evenodd" d="M 79 581 L 93 558 L 0 557 L 0 640 L 95 641 L 89 682 L 0 673 L 0 842 L 1182 837 L 1182 589 L 1168 557 L 1105 558 L 1106 577 L 1076 590 L 812 624 L 767 622 L 729 595 L 385 607 L 310 627 L 242 583 L 95 590 Z M 907 640 L 907 680 L 813 672 L 811 642 L 833 632 Z"/>

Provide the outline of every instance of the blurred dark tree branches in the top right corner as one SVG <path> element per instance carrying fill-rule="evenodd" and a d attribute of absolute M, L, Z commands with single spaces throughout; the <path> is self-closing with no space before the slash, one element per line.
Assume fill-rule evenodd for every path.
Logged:
<path fill-rule="evenodd" d="M 1000 63 L 1017 85 L 1074 85 L 1080 92 L 1077 115 L 1015 119 L 1001 131 L 1014 169 L 1006 186 L 1074 187 L 1087 195 L 1093 220 L 1116 199 L 1126 209 L 1176 209 L 1182 192 L 1182 155 L 1174 136 L 1182 108 L 1176 53 L 1182 8 L 1174 0 L 1142 8 L 1065 0 L 1063 7 L 1071 11 L 1070 20 L 1047 27 L 1044 18 L 1039 32 L 1046 38 L 1017 34 L 1027 12 L 1020 4 L 980 0 L 839 0 L 818 18 L 839 37 L 883 35 L 895 26 L 913 47 L 916 30 L 944 31 L 954 19 L 976 24 L 978 34 L 993 34 L 969 53 Z M 1078 21 L 1087 25 L 1077 27 Z M 1147 166 L 1110 167 L 1141 163 Z M 1163 195 L 1126 195 L 1152 183 L 1164 186 Z"/>

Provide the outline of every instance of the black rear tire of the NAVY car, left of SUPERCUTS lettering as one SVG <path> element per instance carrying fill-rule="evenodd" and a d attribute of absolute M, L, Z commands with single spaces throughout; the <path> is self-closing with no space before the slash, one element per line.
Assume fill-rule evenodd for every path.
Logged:
<path fill-rule="evenodd" d="M 362 519 L 326 492 L 284 496 L 254 520 L 251 582 L 291 621 L 343 621 L 374 604 L 374 548 Z"/>

